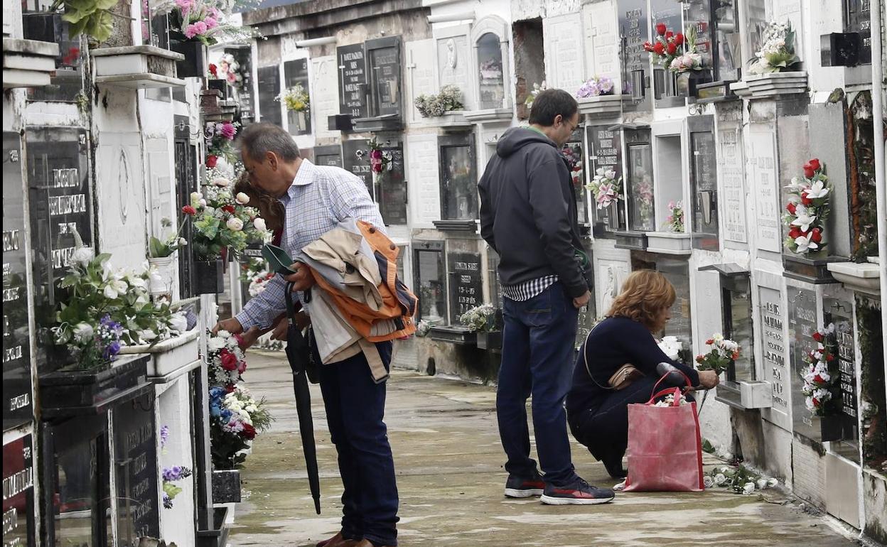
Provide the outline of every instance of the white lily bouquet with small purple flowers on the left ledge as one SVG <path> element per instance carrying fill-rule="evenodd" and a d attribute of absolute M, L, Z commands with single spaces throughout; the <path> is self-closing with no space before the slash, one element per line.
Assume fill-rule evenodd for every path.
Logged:
<path fill-rule="evenodd" d="M 60 303 L 53 337 L 73 351 L 82 369 L 114 361 L 123 346 L 153 344 L 187 329 L 182 312 L 173 313 L 167 301 L 151 301 L 147 266 L 139 273 L 114 270 L 110 258 L 93 256 L 78 241 L 68 274 L 59 283 L 68 296 Z"/>

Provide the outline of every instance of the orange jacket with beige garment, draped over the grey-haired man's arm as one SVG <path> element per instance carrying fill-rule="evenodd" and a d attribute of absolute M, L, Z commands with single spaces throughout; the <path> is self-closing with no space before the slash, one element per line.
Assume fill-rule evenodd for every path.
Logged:
<path fill-rule="evenodd" d="M 310 269 L 311 274 L 318 286 L 332 296 L 341 316 L 365 340 L 381 342 L 409 336 L 416 332 L 412 317 L 419 309 L 419 299 L 397 278 L 397 255 L 400 254 L 400 249 L 371 223 L 357 221 L 357 228 L 373 249 L 376 262 L 379 263 L 382 278 L 379 285 L 382 296 L 380 309 L 372 309 L 364 302 L 349 298 L 313 268 Z"/>

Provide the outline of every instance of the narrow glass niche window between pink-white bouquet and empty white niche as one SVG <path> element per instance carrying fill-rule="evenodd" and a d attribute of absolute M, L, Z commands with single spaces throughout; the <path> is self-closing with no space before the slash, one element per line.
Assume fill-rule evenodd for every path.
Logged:
<path fill-rule="evenodd" d="M 628 200 L 628 229 L 655 231 L 653 207 L 653 148 L 649 130 L 626 131 L 625 189 Z M 631 140 L 629 141 L 629 138 Z"/>

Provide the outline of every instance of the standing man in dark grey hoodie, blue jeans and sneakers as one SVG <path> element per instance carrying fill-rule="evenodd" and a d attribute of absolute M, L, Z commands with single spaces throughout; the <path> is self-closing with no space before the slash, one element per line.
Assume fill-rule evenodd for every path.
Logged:
<path fill-rule="evenodd" d="M 529 128 L 508 129 L 478 184 L 481 235 L 499 255 L 505 332 L 496 413 L 507 462 L 505 495 L 544 504 L 602 504 L 608 488 L 583 481 L 569 454 L 564 397 L 569 390 L 578 309 L 590 298 L 577 260 L 576 195 L 560 149 L 579 125 L 576 99 L 545 90 Z M 526 402 L 541 476 L 530 458 Z"/>

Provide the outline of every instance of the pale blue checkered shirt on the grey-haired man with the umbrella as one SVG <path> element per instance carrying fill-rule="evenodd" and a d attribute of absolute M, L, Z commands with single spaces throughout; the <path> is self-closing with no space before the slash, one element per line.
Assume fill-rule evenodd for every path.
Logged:
<path fill-rule="evenodd" d="M 379 207 L 360 178 L 345 169 L 318 166 L 309 160 L 302 160 L 293 184 L 279 201 L 286 208 L 280 246 L 290 256 L 299 254 L 303 246 L 347 218 L 366 221 L 379 229 L 385 226 Z M 286 285 L 283 276 L 274 276 L 262 293 L 247 302 L 237 315 L 244 331 L 254 325 L 267 329 L 275 317 L 287 310 Z"/>

